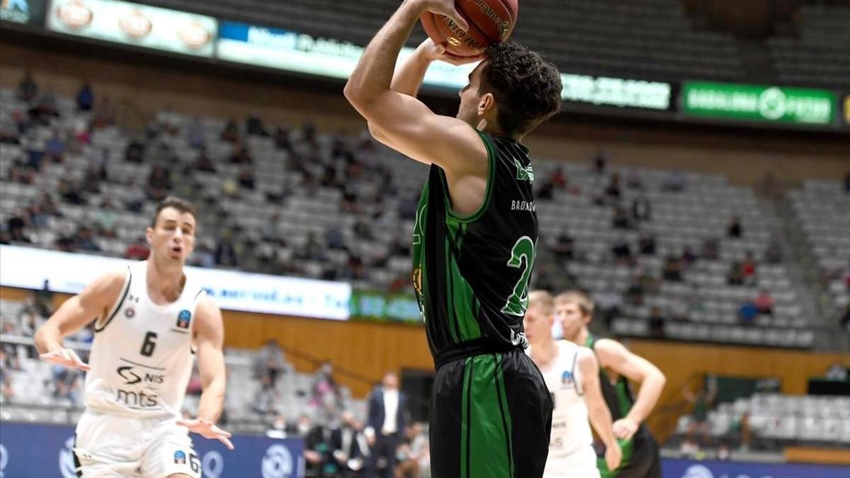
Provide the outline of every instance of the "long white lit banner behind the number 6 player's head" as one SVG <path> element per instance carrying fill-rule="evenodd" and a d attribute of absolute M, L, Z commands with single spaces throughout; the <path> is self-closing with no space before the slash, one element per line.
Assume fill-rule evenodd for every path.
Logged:
<path fill-rule="evenodd" d="M 0 246 L 0 285 L 79 293 L 95 277 L 121 270 L 132 261 L 62 253 L 19 246 Z M 222 309 L 280 316 L 347 320 L 351 285 L 297 277 L 251 274 L 236 270 L 186 267 Z"/>

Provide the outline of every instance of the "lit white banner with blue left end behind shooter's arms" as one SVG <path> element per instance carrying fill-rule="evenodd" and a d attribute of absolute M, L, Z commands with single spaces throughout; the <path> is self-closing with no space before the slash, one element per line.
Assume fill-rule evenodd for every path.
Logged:
<path fill-rule="evenodd" d="M 340 79 L 351 75 L 365 50 L 334 38 L 224 20 L 219 23 L 216 46 L 220 60 Z M 402 48 L 397 65 L 403 65 L 413 51 L 414 48 Z M 428 68 L 423 84 L 462 88 L 474 67 L 475 64 L 454 66 L 437 61 Z"/>

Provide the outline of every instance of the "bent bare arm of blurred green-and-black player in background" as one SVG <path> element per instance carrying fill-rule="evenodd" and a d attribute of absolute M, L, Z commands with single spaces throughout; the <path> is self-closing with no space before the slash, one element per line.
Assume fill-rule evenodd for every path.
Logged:
<path fill-rule="evenodd" d="M 614 424 L 614 434 L 618 438 L 629 439 L 658 402 L 661 390 L 664 390 L 666 377 L 650 361 L 632 354 L 623 344 L 615 340 L 600 339 L 596 343 L 595 350 L 604 367 L 609 367 L 615 373 L 640 384 L 638 397 L 632 409 L 625 418 L 617 420 Z"/>

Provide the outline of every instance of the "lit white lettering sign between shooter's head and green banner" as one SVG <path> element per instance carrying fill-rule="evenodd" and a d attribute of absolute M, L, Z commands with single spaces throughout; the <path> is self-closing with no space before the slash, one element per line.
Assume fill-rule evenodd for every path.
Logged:
<path fill-rule="evenodd" d="M 671 83 L 571 73 L 562 73 L 561 83 L 564 85 L 561 100 L 564 101 L 661 111 L 671 106 Z"/>

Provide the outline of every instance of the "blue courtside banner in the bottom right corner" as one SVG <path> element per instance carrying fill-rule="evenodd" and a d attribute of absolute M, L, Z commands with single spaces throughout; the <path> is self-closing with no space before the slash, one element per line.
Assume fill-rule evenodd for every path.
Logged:
<path fill-rule="evenodd" d="M 847 478 L 850 467 L 665 459 L 664 478 Z"/>

